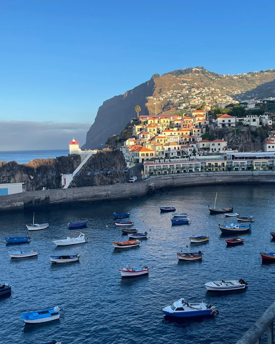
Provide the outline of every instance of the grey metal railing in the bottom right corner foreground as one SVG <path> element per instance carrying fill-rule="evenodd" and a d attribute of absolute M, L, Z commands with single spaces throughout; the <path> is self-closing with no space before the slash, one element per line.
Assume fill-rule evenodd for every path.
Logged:
<path fill-rule="evenodd" d="M 270 307 L 263 313 L 261 318 L 259 318 L 248 331 L 241 337 L 236 344 L 261 344 L 261 337 L 266 333 L 267 344 L 274 343 L 274 319 L 275 319 L 275 301 Z"/>

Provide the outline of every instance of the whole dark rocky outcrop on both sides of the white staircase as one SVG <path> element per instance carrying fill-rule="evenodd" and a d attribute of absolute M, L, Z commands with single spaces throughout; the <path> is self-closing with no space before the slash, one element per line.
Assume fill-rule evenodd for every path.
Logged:
<path fill-rule="evenodd" d="M 78 154 L 56 159 L 35 159 L 27 164 L 3 161 L 0 162 L 0 184 L 24 183 L 23 191 L 43 190 L 43 187 L 60 189 L 62 188 L 62 174 L 73 173 L 80 163 L 81 159 Z M 125 159 L 119 150 L 98 151 L 75 176 L 72 187 L 125 182 L 128 180 L 128 174 L 121 172 L 125 169 Z M 88 174 L 88 171 L 92 173 Z M 104 173 L 105 171 L 112 172 Z"/>

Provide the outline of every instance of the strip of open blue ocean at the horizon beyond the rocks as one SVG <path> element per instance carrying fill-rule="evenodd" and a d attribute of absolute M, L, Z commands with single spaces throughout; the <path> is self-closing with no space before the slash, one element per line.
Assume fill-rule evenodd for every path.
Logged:
<path fill-rule="evenodd" d="M 26 164 L 34 159 L 47 159 L 68 155 L 68 149 L 30 150 L 30 151 L 0 151 L 0 161 L 17 161 Z"/>

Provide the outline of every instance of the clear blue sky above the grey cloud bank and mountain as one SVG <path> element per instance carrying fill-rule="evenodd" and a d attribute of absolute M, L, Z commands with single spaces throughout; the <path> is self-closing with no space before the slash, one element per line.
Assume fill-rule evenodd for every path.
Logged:
<path fill-rule="evenodd" d="M 275 68 L 273 1 L 5 1 L 0 120 L 92 123 L 154 73 Z"/>

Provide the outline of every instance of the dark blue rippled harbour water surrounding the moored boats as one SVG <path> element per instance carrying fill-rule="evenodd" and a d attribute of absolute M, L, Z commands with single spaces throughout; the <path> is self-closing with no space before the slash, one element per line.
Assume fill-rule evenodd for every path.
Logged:
<path fill-rule="evenodd" d="M 243 234 L 244 245 L 227 248 L 218 227 L 235 218 L 209 215 L 218 191 L 217 207 L 233 205 L 243 216 L 254 216 L 252 231 Z M 171 226 L 171 213 L 159 206 L 186 211 L 190 225 Z M 90 343 L 235 343 L 274 301 L 275 265 L 263 265 L 260 251 L 275 251 L 270 232 L 275 223 L 274 184 L 186 187 L 142 198 L 85 204 L 50 212 L 36 211 L 36 222 L 50 228 L 30 232 L 30 244 L 6 245 L 4 236 L 23 236 L 32 212 L 1 213 L 0 281 L 12 285 L 11 297 L 0 300 L 0 342 L 34 344 L 62 340 L 65 344 Z M 149 234 L 140 247 L 113 249 L 113 239 L 125 240 L 113 224 L 112 213 L 130 212 L 140 233 Z M 70 221 L 88 219 L 83 233 L 88 242 L 57 248 L 52 240 L 78 236 L 67 229 Z M 109 226 L 108 228 L 106 226 Z M 190 235 L 210 236 L 209 243 L 189 251 L 203 252 L 201 262 L 179 262 L 180 248 L 190 246 Z M 38 250 L 38 257 L 10 259 L 8 250 Z M 50 263 L 51 254 L 80 254 L 72 264 Z M 131 264 L 149 266 L 149 276 L 122 280 L 118 269 Z M 206 282 L 243 278 L 249 287 L 239 293 L 213 294 Z M 161 309 L 180 297 L 205 301 L 220 314 L 176 322 L 164 319 Z M 57 321 L 24 325 L 20 315 L 58 305 Z M 36 333 L 36 339 L 34 340 Z"/>

